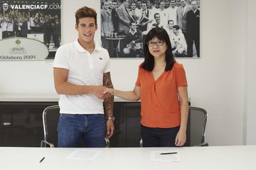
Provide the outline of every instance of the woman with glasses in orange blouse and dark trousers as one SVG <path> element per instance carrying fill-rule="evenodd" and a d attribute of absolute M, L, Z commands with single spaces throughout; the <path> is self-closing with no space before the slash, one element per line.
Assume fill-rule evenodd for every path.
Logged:
<path fill-rule="evenodd" d="M 104 93 L 130 101 L 141 99 L 143 147 L 183 146 L 188 115 L 187 79 L 183 65 L 173 57 L 165 29 L 148 32 L 144 55 L 133 91 L 106 89 Z"/>

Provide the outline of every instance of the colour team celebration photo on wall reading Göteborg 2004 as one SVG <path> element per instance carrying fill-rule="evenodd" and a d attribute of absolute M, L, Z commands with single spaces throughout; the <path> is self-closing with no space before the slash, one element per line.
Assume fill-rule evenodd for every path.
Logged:
<path fill-rule="evenodd" d="M 31 42 L 24 38 L 33 39 L 45 44 L 45 51 L 49 51 L 43 59 L 54 59 L 57 48 L 61 45 L 61 0 L 2 1 L 0 2 L 0 22 L 2 44 L 5 44 L 4 41 L 9 42 L 8 39 L 21 41 L 20 44 L 14 43 L 14 46 L 9 45 L 13 43 L 6 43 L 6 48 L 26 49 L 25 47 L 29 46 L 39 48 L 36 47 L 39 43 L 24 45 L 25 42 Z M 17 60 L 13 58 L 20 60 L 20 57 L 8 57 L 13 55 L 13 50 L 9 51 L 7 54 L 1 54 L 3 57 L 0 60 Z M 37 57 L 36 53 L 29 53 L 29 55 L 35 57 L 28 57 L 26 60 L 42 59 L 42 56 Z M 20 51 L 20 56 L 21 58 L 26 56 L 26 50 Z"/>

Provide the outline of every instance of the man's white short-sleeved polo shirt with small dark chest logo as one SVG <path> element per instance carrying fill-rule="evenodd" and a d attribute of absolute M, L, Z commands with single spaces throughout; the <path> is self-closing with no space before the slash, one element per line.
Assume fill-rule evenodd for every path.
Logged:
<path fill-rule="evenodd" d="M 102 85 L 103 73 L 110 71 L 110 56 L 106 49 L 94 41 L 92 54 L 76 40 L 58 48 L 53 67 L 69 70 L 67 82 L 76 85 Z M 61 95 L 60 113 L 64 114 L 104 114 L 103 101 L 93 94 Z"/>

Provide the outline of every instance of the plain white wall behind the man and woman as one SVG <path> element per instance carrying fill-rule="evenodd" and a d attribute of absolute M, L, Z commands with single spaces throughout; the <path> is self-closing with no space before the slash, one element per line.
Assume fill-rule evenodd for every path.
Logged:
<path fill-rule="evenodd" d="M 84 5 L 97 9 L 100 23 L 100 0 L 62 0 L 63 44 L 76 39 L 74 13 Z M 252 123 L 256 111 L 256 12 L 250 5 L 255 6 L 254 0 L 248 5 L 248 13 L 253 14 L 247 16 L 247 0 L 201 0 L 201 59 L 177 59 L 186 70 L 191 105 L 208 113 L 207 142 L 211 146 L 256 144 L 256 138 L 251 138 L 256 130 Z M 253 27 L 248 29 L 248 42 L 247 18 L 253 21 L 248 24 Z M 100 43 L 100 28 L 96 40 Z M 244 47 L 246 43 L 248 47 Z M 132 90 L 142 61 L 111 59 L 114 87 Z M 0 95 L 55 94 L 52 71 L 51 63 L 45 61 L 1 61 Z"/>

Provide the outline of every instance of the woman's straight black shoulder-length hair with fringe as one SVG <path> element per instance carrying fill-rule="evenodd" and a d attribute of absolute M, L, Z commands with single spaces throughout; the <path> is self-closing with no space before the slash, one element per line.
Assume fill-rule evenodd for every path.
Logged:
<path fill-rule="evenodd" d="M 141 68 L 147 70 L 147 71 L 152 71 L 154 68 L 154 56 L 150 54 L 147 42 L 152 40 L 154 37 L 158 38 L 159 40 L 164 41 L 167 44 L 167 50 L 166 50 L 166 66 L 165 66 L 165 71 L 169 71 L 172 69 L 175 59 L 174 56 L 171 52 L 171 41 L 169 39 L 169 36 L 164 28 L 152 28 L 148 34 L 146 35 L 146 39 L 144 42 L 144 62 L 140 65 Z"/>

